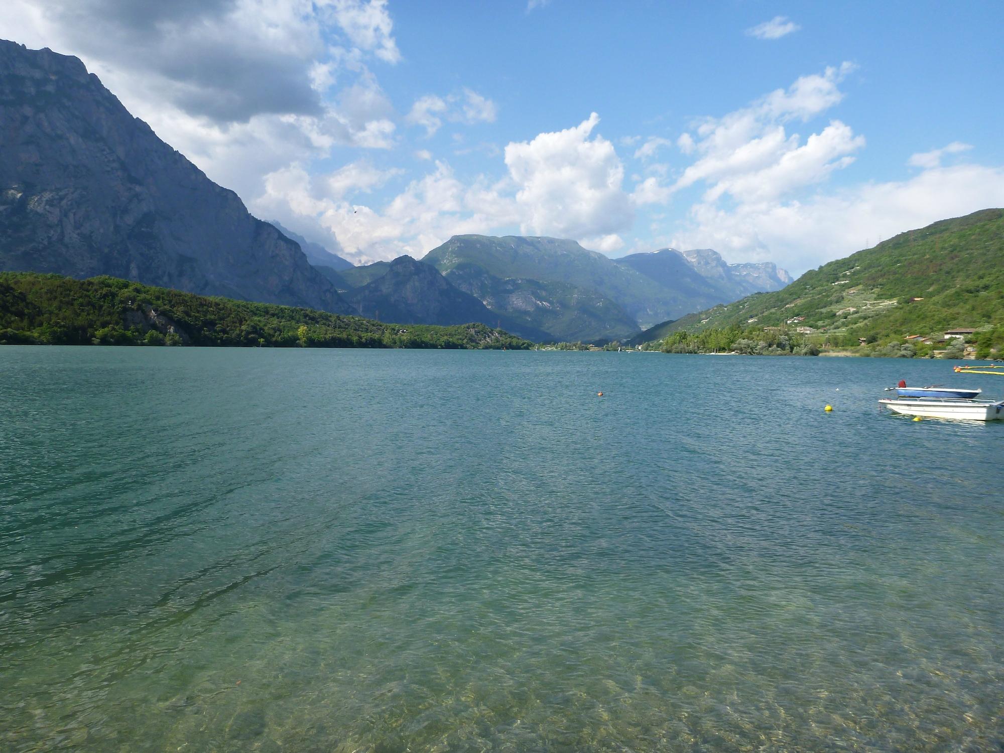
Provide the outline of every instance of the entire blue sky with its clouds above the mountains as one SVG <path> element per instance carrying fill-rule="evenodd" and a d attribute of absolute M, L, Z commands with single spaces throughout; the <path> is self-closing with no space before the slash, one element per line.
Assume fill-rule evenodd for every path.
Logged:
<path fill-rule="evenodd" d="M 522 233 L 798 273 L 1004 205 L 999 2 L 144 8 L 12 0 L 0 35 L 358 262 Z"/>

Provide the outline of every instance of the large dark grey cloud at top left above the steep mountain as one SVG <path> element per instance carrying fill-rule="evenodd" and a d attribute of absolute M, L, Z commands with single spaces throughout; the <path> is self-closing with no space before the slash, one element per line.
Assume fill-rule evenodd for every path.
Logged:
<path fill-rule="evenodd" d="M 35 28 L 6 28 L 18 6 L 32 11 Z M 316 84 L 333 70 L 325 34 L 397 59 L 383 0 L 9 0 L 0 29 L 41 38 L 124 84 L 154 79 L 162 99 L 218 122 L 319 113 Z"/>

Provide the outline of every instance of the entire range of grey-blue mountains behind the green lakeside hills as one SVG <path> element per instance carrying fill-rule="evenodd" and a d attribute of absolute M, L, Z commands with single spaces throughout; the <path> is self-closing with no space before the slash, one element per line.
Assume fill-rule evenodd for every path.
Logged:
<path fill-rule="evenodd" d="M 75 57 L 0 41 L 0 271 L 112 275 L 201 294 L 480 321 L 532 339 L 612 340 L 790 281 L 710 249 L 609 259 L 571 240 L 455 236 L 353 267 L 252 217 L 133 117 Z"/>

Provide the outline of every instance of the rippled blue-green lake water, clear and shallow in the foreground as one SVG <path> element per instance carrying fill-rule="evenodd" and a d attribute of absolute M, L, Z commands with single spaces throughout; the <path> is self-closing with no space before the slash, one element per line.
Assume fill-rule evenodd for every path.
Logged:
<path fill-rule="evenodd" d="M 1004 392 L 0 348 L 0 749 L 1000 750 L 1004 426 L 880 413 L 900 378 Z"/>

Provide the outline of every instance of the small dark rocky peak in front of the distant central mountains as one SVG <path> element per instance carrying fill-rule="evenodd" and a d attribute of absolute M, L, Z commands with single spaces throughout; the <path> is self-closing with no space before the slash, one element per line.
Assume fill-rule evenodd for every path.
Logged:
<path fill-rule="evenodd" d="M 411 256 L 383 262 L 384 274 L 345 293 L 360 316 L 402 324 L 466 324 L 501 326 L 520 336 L 541 340 L 547 333 L 489 311 L 473 295 L 452 285 L 429 264 Z"/>

